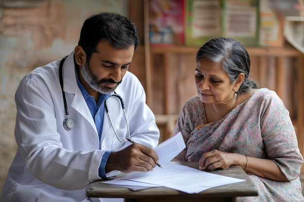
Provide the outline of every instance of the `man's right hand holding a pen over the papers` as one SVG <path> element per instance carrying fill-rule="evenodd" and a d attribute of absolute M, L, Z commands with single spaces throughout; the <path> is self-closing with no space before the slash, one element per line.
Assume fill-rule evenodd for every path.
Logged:
<path fill-rule="evenodd" d="M 142 144 L 131 144 L 127 148 L 112 152 L 105 165 L 105 172 L 152 171 L 158 161 L 155 151 Z"/>

